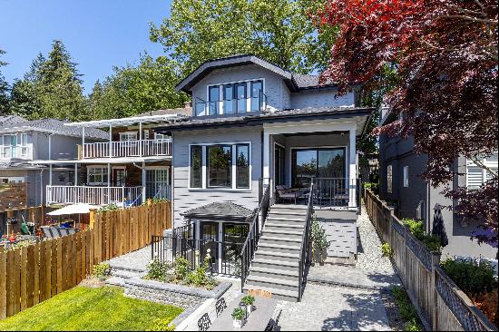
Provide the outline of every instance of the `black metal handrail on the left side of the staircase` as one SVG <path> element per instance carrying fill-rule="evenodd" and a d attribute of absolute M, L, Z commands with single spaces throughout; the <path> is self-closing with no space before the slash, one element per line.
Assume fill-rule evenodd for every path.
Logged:
<path fill-rule="evenodd" d="M 269 194 L 269 186 L 265 188 L 263 196 L 259 203 L 259 208 L 255 212 L 253 216 L 253 220 L 251 221 L 251 225 L 249 226 L 248 237 L 244 241 L 242 245 L 242 249 L 240 251 L 240 288 L 244 287 L 244 283 L 246 282 L 246 278 L 249 275 L 249 267 L 251 266 L 251 261 L 257 251 L 259 237 L 260 237 L 260 229 L 263 229 L 265 224 L 265 220 L 267 219 L 267 215 L 269 213 L 270 207 L 270 194 Z M 261 218 L 261 227 L 259 227 L 259 220 Z"/>

